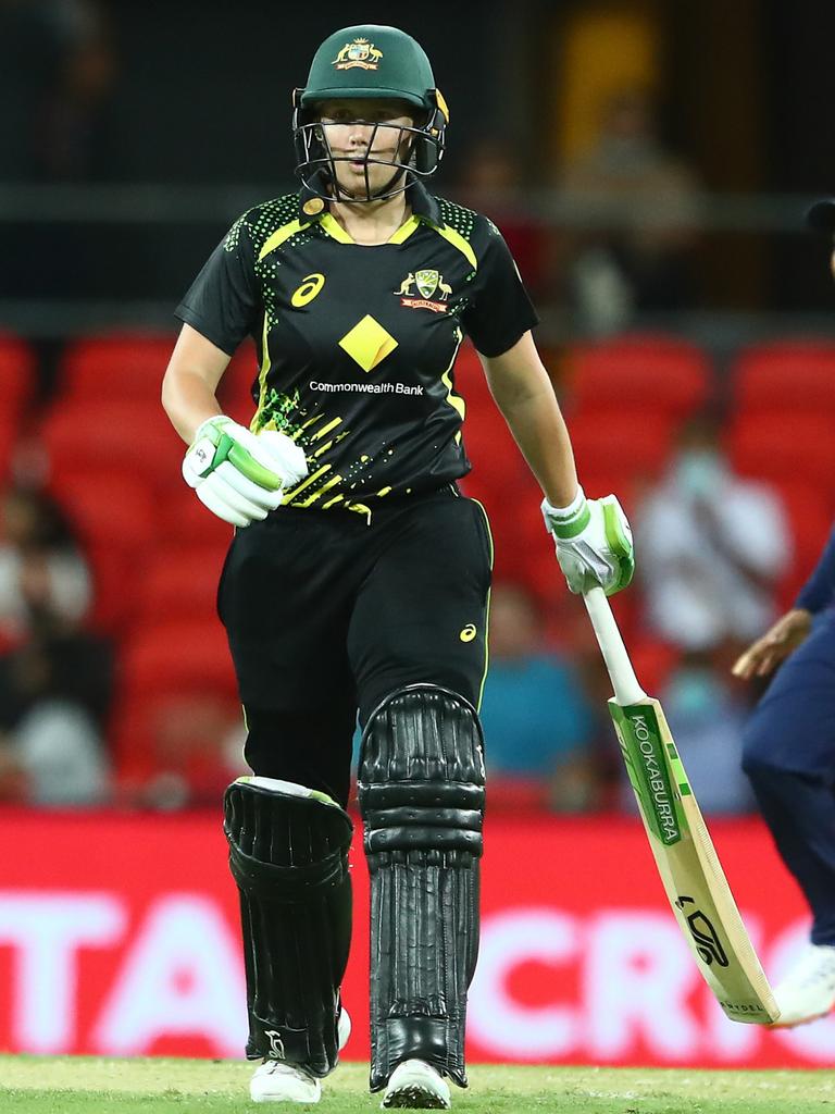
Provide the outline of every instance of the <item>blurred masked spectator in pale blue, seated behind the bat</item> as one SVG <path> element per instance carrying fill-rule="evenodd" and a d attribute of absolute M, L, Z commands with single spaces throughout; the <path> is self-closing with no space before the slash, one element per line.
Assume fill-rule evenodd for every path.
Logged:
<path fill-rule="evenodd" d="M 710 654 L 686 654 L 658 692 L 692 791 L 706 815 L 735 815 L 754 809 L 750 785 L 739 765 L 749 707 L 725 680 L 738 648 L 738 643 L 727 642 Z M 621 773 L 623 803 L 635 811 L 635 794 L 622 765 Z"/>

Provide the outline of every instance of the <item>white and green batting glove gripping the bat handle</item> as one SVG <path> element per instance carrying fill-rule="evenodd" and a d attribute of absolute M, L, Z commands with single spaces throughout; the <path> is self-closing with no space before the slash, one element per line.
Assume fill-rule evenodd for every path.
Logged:
<path fill-rule="evenodd" d="M 543 499 L 542 516 L 571 592 L 599 585 L 612 596 L 626 588 L 635 573 L 632 531 L 613 495 L 587 499 L 580 488 L 569 507 L 552 507 Z"/>

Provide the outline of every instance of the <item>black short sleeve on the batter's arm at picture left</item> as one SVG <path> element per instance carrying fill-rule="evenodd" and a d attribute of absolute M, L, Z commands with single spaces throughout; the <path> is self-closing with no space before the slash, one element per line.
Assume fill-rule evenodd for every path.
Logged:
<path fill-rule="evenodd" d="M 217 245 L 174 312 L 228 355 L 253 332 L 261 306 L 245 216 Z"/>

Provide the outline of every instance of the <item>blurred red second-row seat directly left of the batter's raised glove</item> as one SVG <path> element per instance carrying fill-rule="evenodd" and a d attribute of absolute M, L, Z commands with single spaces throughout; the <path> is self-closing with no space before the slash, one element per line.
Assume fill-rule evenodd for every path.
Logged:
<path fill-rule="evenodd" d="M 116 467 L 160 488 L 183 482 L 184 443 L 159 403 L 68 400 L 49 413 L 40 436 L 55 476 Z"/>

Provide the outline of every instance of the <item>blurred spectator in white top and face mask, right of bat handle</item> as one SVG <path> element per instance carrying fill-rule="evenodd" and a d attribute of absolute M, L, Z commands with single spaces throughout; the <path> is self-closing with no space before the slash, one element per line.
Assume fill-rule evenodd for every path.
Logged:
<path fill-rule="evenodd" d="M 790 539 L 779 499 L 730 471 L 709 416 L 688 421 L 636 518 L 649 625 L 684 649 L 749 642 L 775 617 Z"/>

